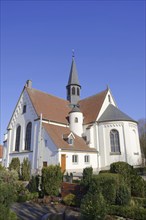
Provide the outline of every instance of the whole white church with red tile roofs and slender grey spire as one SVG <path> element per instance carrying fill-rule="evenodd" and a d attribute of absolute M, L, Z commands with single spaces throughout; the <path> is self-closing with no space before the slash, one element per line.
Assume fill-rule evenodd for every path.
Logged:
<path fill-rule="evenodd" d="M 60 164 L 63 172 L 109 169 L 125 161 L 141 165 L 137 122 L 116 105 L 109 88 L 80 99 L 81 85 L 72 56 L 66 100 L 39 91 L 27 80 L 4 138 L 3 165 L 12 158 L 31 162 L 31 173 Z"/>

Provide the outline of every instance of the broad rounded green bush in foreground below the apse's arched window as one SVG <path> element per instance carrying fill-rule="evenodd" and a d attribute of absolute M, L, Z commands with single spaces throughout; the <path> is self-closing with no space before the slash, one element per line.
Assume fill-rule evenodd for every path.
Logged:
<path fill-rule="evenodd" d="M 121 175 L 111 174 L 111 173 L 102 173 L 97 176 L 93 176 L 90 183 L 89 192 L 102 193 L 104 199 L 110 203 L 116 203 L 116 192 L 119 188 L 119 185 L 124 182 Z"/>

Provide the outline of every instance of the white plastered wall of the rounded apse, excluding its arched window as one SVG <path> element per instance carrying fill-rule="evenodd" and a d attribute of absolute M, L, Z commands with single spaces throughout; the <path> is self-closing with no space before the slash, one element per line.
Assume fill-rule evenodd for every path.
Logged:
<path fill-rule="evenodd" d="M 120 154 L 111 153 L 110 131 L 112 129 L 116 129 L 119 132 Z M 118 161 L 125 161 L 130 165 L 141 164 L 141 152 L 136 123 L 126 121 L 104 122 L 99 124 L 98 130 L 101 169 L 109 168 L 111 163 Z M 135 140 L 133 140 L 133 133 Z"/>

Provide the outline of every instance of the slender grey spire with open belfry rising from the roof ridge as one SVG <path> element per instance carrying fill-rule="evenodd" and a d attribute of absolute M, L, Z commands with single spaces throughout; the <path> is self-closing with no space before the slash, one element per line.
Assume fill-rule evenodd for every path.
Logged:
<path fill-rule="evenodd" d="M 70 102 L 72 106 L 77 105 L 78 101 L 80 100 L 81 86 L 78 80 L 74 54 L 72 55 L 71 70 L 70 70 L 69 80 L 66 89 L 67 89 L 67 100 Z"/>

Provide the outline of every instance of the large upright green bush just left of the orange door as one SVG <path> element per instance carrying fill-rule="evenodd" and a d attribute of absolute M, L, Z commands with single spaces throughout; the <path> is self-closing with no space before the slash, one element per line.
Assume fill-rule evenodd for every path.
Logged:
<path fill-rule="evenodd" d="M 42 189 L 44 194 L 57 196 L 62 182 L 62 172 L 59 165 L 50 165 L 42 169 Z"/>

